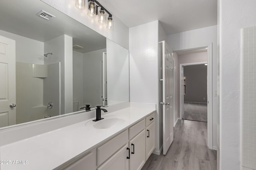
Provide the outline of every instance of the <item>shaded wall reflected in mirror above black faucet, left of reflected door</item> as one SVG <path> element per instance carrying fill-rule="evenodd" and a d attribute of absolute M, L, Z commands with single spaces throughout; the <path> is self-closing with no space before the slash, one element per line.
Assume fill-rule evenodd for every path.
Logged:
<path fill-rule="evenodd" d="M 102 105 L 102 57 L 106 49 L 84 53 L 84 104 L 90 104 L 92 107 Z"/>

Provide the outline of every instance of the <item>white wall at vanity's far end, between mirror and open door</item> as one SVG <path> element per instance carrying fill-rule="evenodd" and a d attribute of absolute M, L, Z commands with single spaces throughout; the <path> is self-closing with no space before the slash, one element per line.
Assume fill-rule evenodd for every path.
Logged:
<path fill-rule="evenodd" d="M 158 21 L 129 29 L 130 102 L 158 105 Z M 156 149 L 160 151 L 159 110 L 156 111 Z"/>

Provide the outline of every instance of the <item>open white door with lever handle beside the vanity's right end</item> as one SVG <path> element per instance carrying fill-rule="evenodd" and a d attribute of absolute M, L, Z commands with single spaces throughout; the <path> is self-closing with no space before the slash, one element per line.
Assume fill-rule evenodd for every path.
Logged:
<path fill-rule="evenodd" d="M 163 47 L 163 153 L 166 154 L 173 141 L 173 52 L 165 41 Z"/>

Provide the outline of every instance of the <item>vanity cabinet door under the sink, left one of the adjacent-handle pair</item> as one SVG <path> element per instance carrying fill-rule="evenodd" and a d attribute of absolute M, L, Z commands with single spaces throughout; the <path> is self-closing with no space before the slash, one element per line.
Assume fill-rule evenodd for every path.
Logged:
<path fill-rule="evenodd" d="M 129 169 L 129 150 L 128 145 L 119 149 L 113 156 L 111 156 L 104 164 L 97 170 L 128 170 Z"/>

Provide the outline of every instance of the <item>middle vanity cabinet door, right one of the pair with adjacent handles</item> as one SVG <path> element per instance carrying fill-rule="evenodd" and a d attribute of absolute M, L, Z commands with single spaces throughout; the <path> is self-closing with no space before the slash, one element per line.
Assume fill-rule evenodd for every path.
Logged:
<path fill-rule="evenodd" d="M 146 162 L 145 129 L 129 142 L 130 170 L 140 170 Z"/>

